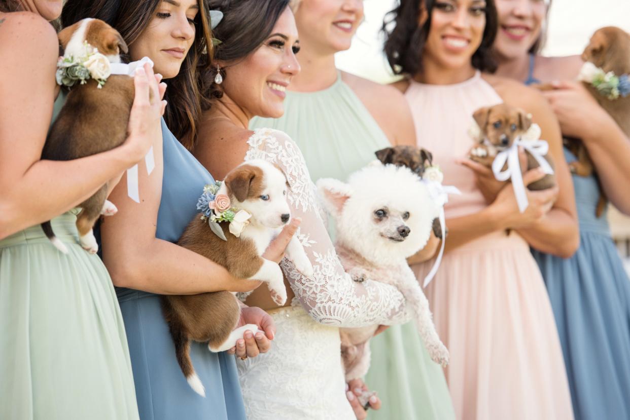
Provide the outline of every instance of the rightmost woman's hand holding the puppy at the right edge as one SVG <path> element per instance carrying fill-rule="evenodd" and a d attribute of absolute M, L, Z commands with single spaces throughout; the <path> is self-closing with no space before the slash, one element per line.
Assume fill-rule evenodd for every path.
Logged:
<path fill-rule="evenodd" d="M 599 106 L 581 82 L 552 82 L 553 90 L 544 91 L 565 137 L 577 139 L 597 138 L 596 130 L 610 115 Z"/>

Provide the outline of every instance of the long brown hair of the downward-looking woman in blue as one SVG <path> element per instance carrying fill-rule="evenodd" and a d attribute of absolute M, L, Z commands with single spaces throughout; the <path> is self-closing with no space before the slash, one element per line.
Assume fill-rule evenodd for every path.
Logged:
<path fill-rule="evenodd" d="M 4 0 L 0 0 L 4 1 Z M 64 27 L 84 18 L 96 18 L 112 25 L 128 45 L 134 43 L 149 25 L 162 0 L 67 0 L 61 13 Z M 195 41 L 181 64 L 177 76 L 168 81 L 165 99 L 168 101 L 164 120 L 186 148 L 192 149 L 197 139 L 202 106 L 203 78 L 212 57 L 212 33 L 207 4 L 197 0 L 199 13 L 195 17 Z M 129 57 L 123 56 L 129 61 Z"/>

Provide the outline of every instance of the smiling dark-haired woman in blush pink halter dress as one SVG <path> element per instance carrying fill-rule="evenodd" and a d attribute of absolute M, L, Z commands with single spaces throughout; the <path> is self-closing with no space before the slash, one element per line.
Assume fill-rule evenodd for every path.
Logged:
<path fill-rule="evenodd" d="M 444 182 L 462 191 L 447 204 L 447 254 L 427 288 L 450 350 L 446 374 L 457 418 L 571 419 L 553 312 L 529 253 L 531 245 L 568 257 L 578 246 L 558 122 L 536 91 L 481 75 L 495 69 L 493 0 L 402 0 L 390 16 L 385 51 L 392 68 L 406 76 L 396 86 L 411 105 L 418 140 L 433 150 Z M 473 112 L 503 101 L 532 113 L 556 163 L 559 188 L 528 192 L 524 213 L 512 184 L 498 187 L 490 171 L 475 177 L 458 162 L 472 144 Z M 529 171 L 524 181 L 541 176 Z M 414 269 L 422 278 L 431 266 Z"/>

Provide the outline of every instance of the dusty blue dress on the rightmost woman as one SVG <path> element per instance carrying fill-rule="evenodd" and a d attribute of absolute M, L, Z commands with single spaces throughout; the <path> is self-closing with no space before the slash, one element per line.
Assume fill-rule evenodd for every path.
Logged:
<path fill-rule="evenodd" d="M 532 69 L 528 84 L 537 82 Z M 566 149 L 564 156 L 576 160 Z M 573 186 L 578 251 L 568 259 L 532 254 L 556 318 L 575 419 L 630 419 L 630 280 L 606 212 L 595 217 L 597 179 L 573 175 Z"/>

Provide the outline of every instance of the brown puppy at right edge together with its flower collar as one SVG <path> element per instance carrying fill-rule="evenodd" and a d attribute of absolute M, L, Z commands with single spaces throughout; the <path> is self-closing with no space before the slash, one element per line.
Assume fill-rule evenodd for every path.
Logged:
<path fill-rule="evenodd" d="M 593 33 L 582 52 L 585 61 L 578 80 L 604 110 L 612 116 L 621 130 L 630 136 L 630 34 L 615 26 L 600 28 Z M 553 90 L 551 84 L 534 85 L 541 91 Z M 577 158 L 569 163 L 571 173 L 588 177 L 595 167 L 588 150 L 580 139 L 565 137 L 564 146 Z M 598 180 L 599 182 L 599 180 Z M 607 199 L 599 185 L 599 201 L 595 215 L 604 213 Z"/>

